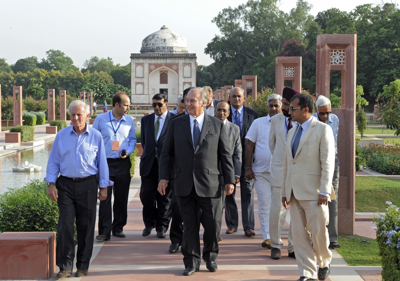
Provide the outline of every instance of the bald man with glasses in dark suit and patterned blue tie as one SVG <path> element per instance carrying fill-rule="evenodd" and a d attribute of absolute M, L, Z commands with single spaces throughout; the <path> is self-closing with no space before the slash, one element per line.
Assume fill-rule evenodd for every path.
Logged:
<path fill-rule="evenodd" d="M 237 125 L 240 129 L 240 141 L 242 143 L 242 170 L 240 172 L 240 202 L 242 205 L 242 224 L 244 229 L 244 235 L 254 236 L 254 192 L 253 192 L 253 180 L 248 180 L 244 177 L 245 165 L 244 155 L 246 153 L 247 139 L 246 134 L 254 120 L 258 118 L 258 113 L 244 106 L 246 96 L 244 95 L 243 89 L 235 87 L 230 90 L 230 114 L 227 118 L 229 122 Z M 238 211 L 236 201 L 234 200 L 236 194 L 236 187 L 233 191 L 232 197 L 225 198 L 225 213 L 228 212 L 228 216 L 232 219 L 227 221 L 228 229 L 226 234 L 232 234 L 238 231 L 238 220 L 233 219 L 235 212 Z"/>

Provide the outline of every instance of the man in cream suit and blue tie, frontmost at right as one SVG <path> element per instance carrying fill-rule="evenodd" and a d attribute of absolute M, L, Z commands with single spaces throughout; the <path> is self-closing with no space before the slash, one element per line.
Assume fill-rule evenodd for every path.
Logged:
<path fill-rule="evenodd" d="M 300 279 L 326 280 L 332 252 L 326 225 L 328 201 L 334 198 L 335 139 L 332 129 L 312 116 L 312 96 L 299 94 L 290 100 L 289 113 L 298 124 L 288 132 L 282 185 L 282 203 L 290 205 L 294 251 Z M 331 197 L 331 198 L 330 198 Z M 311 241 L 312 240 L 312 241 Z M 313 243 L 313 245 L 311 245 Z"/>

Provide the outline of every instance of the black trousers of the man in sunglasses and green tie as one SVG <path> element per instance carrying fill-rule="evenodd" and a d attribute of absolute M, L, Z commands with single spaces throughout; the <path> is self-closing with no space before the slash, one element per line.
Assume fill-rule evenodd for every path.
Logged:
<path fill-rule="evenodd" d="M 161 195 L 158 188 L 158 162 L 154 158 L 150 173 L 146 177 L 140 177 L 140 201 L 143 204 L 143 222 L 146 227 L 155 227 L 167 231 L 171 220 L 172 192 L 170 183 Z"/>

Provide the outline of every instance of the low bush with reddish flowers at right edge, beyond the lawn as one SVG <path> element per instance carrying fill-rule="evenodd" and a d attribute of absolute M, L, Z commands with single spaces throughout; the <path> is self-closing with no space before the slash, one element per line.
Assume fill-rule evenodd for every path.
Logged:
<path fill-rule="evenodd" d="M 385 175 L 400 175 L 400 145 L 372 144 L 361 149 L 366 167 Z"/>

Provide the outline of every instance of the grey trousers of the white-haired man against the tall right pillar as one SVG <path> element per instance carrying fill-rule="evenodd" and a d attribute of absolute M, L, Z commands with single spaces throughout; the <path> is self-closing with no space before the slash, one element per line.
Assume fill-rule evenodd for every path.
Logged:
<path fill-rule="evenodd" d="M 329 209 L 329 224 L 328 234 L 330 242 L 338 242 L 338 189 L 339 189 L 339 159 L 338 156 L 335 158 L 335 171 L 333 173 L 332 180 L 333 190 L 335 192 L 336 200 L 328 202 Z"/>

